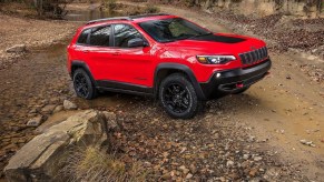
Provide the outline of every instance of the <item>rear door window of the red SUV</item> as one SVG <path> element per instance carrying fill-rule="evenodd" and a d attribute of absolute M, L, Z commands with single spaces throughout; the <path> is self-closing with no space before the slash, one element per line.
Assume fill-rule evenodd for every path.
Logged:
<path fill-rule="evenodd" d="M 98 27 L 91 30 L 90 44 L 99 47 L 109 47 L 110 26 Z"/>

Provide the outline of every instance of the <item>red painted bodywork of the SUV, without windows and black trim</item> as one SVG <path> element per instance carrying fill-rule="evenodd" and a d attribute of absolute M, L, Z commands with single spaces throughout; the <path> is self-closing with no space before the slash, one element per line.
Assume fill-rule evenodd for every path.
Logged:
<path fill-rule="evenodd" d="M 154 87 L 154 77 L 159 63 L 173 62 L 185 64 L 194 72 L 198 82 L 207 82 L 215 71 L 230 70 L 251 65 L 244 65 L 239 53 L 265 47 L 265 42 L 254 38 L 235 34 L 223 34 L 244 38 L 246 41 L 239 43 L 222 43 L 210 41 L 180 40 L 168 43 L 160 43 L 150 38 L 139 26 L 139 22 L 177 18 L 175 16 L 159 16 L 128 20 L 104 21 L 84 26 L 78 29 L 71 43 L 68 47 L 68 70 L 71 72 L 72 61 L 85 62 L 95 80 L 109 80 L 130 83 L 144 87 Z M 77 39 L 81 31 L 88 28 L 126 23 L 137 29 L 148 41 L 145 48 L 104 48 L 77 44 Z M 219 33 L 220 34 L 220 33 Z M 203 64 L 197 61 L 197 55 L 229 54 L 235 55 L 236 60 L 226 64 Z M 255 62 L 255 64 L 258 62 Z"/>

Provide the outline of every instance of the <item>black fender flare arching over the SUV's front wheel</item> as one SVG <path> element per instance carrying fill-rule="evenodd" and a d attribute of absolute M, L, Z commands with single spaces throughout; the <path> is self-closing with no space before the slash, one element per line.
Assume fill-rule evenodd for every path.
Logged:
<path fill-rule="evenodd" d="M 205 98 L 205 94 L 194 74 L 194 72 L 192 71 L 192 69 L 185 64 L 179 64 L 179 63 L 159 63 L 155 70 L 155 73 L 154 73 L 154 93 L 155 93 L 155 98 L 157 98 L 157 93 L 158 93 L 158 87 L 159 87 L 159 83 L 161 81 L 161 79 L 164 78 L 160 78 L 160 72 L 163 70 L 174 70 L 174 71 L 179 71 L 179 72 L 183 72 L 185 73 L 189 81 L 193 83 L 194 85 L 194 89 L 197 93 L 197 97 L 198 99 L 200 100 L 206 100 Z"/>

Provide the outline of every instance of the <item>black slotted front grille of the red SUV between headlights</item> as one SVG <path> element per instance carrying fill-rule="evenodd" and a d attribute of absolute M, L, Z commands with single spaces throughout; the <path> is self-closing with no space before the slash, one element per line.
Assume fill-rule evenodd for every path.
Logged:
<path fill-rule="evenodd" d="M 253 50 L 251 52 L 239 53 L 238 55 L 243 64 L 253 64 L 268 57 L 266 47 Z"/>

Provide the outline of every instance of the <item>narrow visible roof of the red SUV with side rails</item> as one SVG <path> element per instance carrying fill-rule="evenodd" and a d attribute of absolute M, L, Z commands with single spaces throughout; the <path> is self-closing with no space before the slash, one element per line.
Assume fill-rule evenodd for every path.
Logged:
<path fill-rule="evenodd" d="M 129 17 L 114 17 L 114 18 L 105 18 L 105 19 L 97 19 L 88 21 L 87 24 L 94 24 L 105 21 L 116 21 L 116 20 L 124 20 L 124 21 L 147 21 L 151 19 L 156 19 L 156 17 L 174 17 L 167 13 L 151 13 L 151 14 L 139 14 L 139 16 L 129 16 Z"/>

